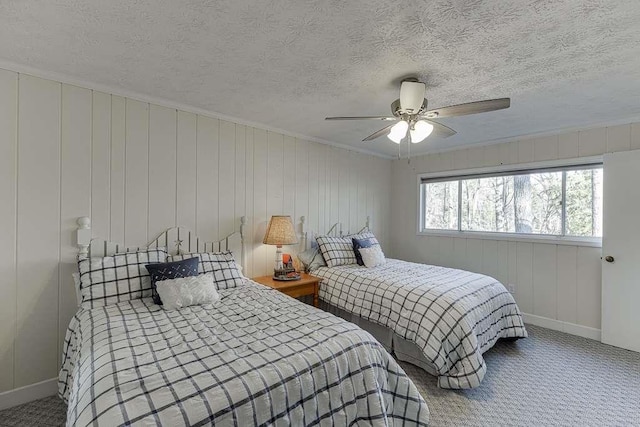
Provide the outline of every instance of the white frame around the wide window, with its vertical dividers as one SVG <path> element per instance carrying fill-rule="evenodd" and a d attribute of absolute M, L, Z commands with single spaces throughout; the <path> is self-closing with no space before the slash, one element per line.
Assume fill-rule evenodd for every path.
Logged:
<path fill-rule="evenodd" d="M 545 171 L 553 168 L 572 168 L 587 169 L 589 166 L 603 166 L 603 156 L 581 157 L 577 159 L 563 159 L 531 163 L 516 163 L 510 165 L 500 165 L 492 167 L 482 167 L 474 169 L 450 170 L 444 172 L 431 172 L 417 174 L 417 222 L 416 234 L 418 236 L 440 236 L 440 237 L 458 237 L 481 240 L 505 240 L 515 242 L 531 242 L 531 243 L 549 243 L 556 245 L 573 245 L 573 246 L 589 246 L 602 247 L 602 237 L 581 237 L 581 236 L 565 236 L 566 233 L 566 173 L 562 174 L 562 236 L 554 236 L 548 234 L 524 234 L 524 233 L 504 233 L 499 231 L 465 231 L 462 230 L 462 179 L 477 175 L 499 175 L 513 174 L 516 172 L 535 173 L 536 171 Z M 424 188 L 423 180 L 458 180 L 458 229 L 457 230 L 441 230 L 441 229 L 425 229 L 424 221 Z"/>

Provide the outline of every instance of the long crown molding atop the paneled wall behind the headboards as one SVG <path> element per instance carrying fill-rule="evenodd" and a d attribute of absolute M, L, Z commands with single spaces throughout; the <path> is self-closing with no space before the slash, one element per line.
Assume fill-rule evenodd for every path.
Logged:
<path fill-rule="evenodd" d="M 39 68 L 31 67 L 28 65 L 17 64 L 15 62 L 6 61 L 3 59 L 0 59 L 0 69 L 15 72 L 18 74 L 28 74 L 33 77 L 39 77 L 42 79 L 52 80 L 62 84 L 78 86 L 84 89 L 95 90 L 98 92 L 105 92 L 111 95 L 135 99 L 137 101 L 142 101 L 149 104 L 159 105 L 167 108 L 173 108 L 173 109 L 184 111 L 187 113 L 199 114 L 202 116 L 207 116 L 207 117 L 211 117 L 219 120 L 225 120 L 225 121 L 233 122 L 239 125 L 254 127 L 254 128 L 268 131 L 268 132 L 279 133 L 285 136 L 290 136 L 290 137 L 302 139 L 305 141 L 317 142 L 319 144 L 329 145 L 332 147 L 341 148 L 343 150 L 353 151 L 353 152 L 362 153 L 362 154 L 368 154 L 370 156 L 380 157 L 382 159 L 393 160 L 396 158 L 394 156 L 378 153 L 376 151 L 367 150 L 367 149 L 358 148 L 358 147 L 352 147 L 347 144 L 341 144 L 339 142 L 329 141 L 322 138 L 316 138 L 309 135 L 303 135 L 296 132 L 290 132 L 285 129 L 269 126 L 265 123 L 245 120 L 239 117 L 233 117 L 227 114 L 219 113 L 217 111 L 211 111 L 211 110 L 206 110 L 204 108 L 198 108 L 191 105 L 182 104 L 180 102 L 175 102 L 170 99 L 154 97 L 154 96 L 146 95 L 143 93 L 127 90 L 121 87 L 114 87 L 114 86 L 104 85 L 100 83 L 95 83 L 89 80 L 79 79 L 64 73 L 58 73 L 55 71 L 45 71 Z"/>

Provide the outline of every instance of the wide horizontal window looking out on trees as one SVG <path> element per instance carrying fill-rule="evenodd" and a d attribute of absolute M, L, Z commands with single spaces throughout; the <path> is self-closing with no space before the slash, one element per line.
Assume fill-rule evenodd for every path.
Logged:
<path fill-rule="evenodd" d="M 602 236 L 602 165 L 463 175 L 420 183 L 420 229 Z"/>

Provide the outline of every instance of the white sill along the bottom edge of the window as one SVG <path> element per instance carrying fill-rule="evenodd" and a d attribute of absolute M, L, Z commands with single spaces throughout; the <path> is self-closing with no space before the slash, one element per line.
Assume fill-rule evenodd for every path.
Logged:
<path fill-rule="evenodd" d="M 438 236 L 455 237 L 459 239 L 480 239 L 480 240 L 502 240 L 509 242 L 546 243 L 550 245 L 568 246 L 588 246 L 601 248 L 602 239 L 594 237 L 559 237 L 559 236 L 539 236 L 535 234 L 510 234 L 510 233 L 487 233 L 480 231 L 447 231 L 447 230 L 423 230 L 417 233 L 418 236 Z"/>

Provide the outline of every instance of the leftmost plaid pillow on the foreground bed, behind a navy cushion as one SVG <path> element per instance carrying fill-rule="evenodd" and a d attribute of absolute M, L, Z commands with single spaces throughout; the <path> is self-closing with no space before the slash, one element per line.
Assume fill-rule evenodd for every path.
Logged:
<path fill-rule="evenodd" d="M 83 308 L 151 296 L 151 278 L 145 265 L 164 262 L 165 248 L 78 260 Z"/>

